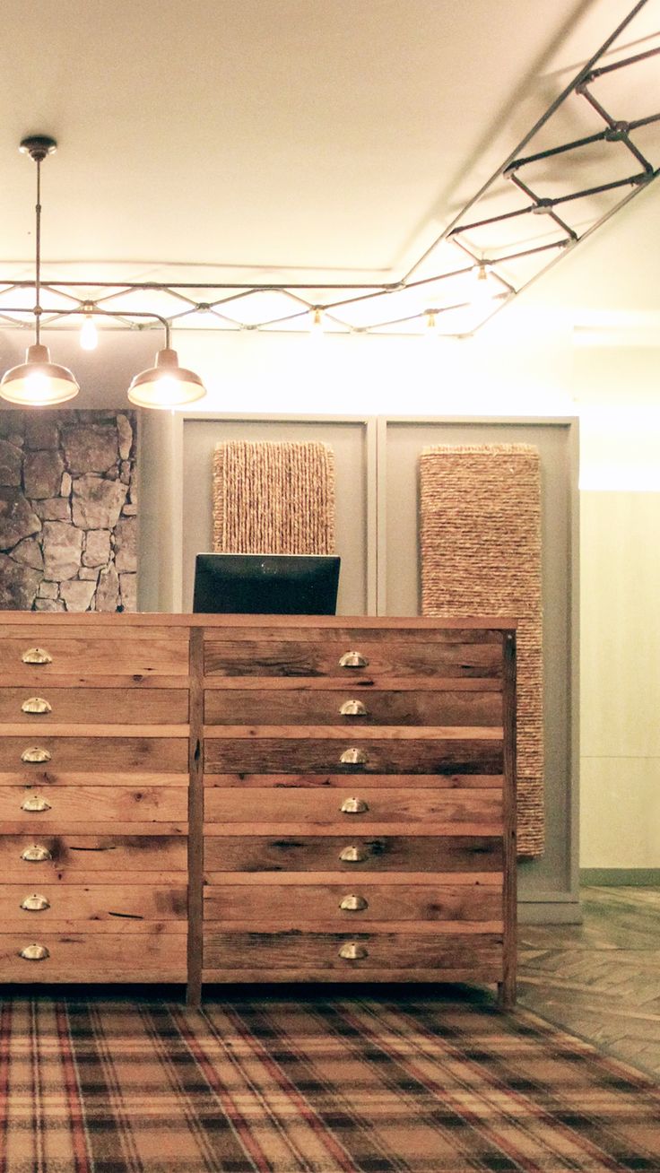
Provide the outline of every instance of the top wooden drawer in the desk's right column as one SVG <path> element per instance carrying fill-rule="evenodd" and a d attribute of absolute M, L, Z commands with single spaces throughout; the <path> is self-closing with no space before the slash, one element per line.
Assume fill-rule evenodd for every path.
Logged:
<path fill-rule="evenodd" d="M 342 667 L 343 652 L 359 651 L 366 667 Z M 304 639 L 207 639 L 204 644 L 206 676 L 341 677 L 347 682 L 388 676 L 469 676 L 499 678 L 501 637 L 491 643 L 400 643 L 390 639 L 361 640 L 359 647 L 343 643 Z"/>

